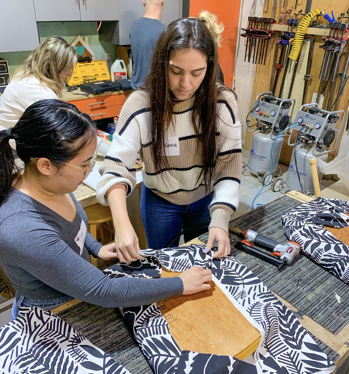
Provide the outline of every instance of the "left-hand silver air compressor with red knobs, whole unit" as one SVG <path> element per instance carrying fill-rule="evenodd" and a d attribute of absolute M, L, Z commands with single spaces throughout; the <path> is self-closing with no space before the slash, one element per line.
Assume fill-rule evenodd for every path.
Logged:
<path fill-rule="evenodd" d="M 243 174 L 256 175 L 263 185 L 270 173 L 272 177 L 281 174 L 278 163 L 282 143 L 287 134 L 285 132 L 284 135 L 278 135 L 289 125 L 295 104 L 295 99 L 279 99 L 272 92 L 260 93 L 257 96 L 248 122 L 251 123 L 254 118 L 257 123 L 253 126 L 247 124 L 248 131 L 254 134 L 247 164 L 243 165 Z M 289 115 L 291 105 L 292 111 Z"/>

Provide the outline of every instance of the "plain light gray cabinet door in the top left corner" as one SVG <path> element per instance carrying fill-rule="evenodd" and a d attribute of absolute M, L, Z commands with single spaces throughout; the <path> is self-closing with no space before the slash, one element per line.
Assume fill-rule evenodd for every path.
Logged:
<path fill-rule="evenodd" d="M 39 35 L 33 0 L 1 0 L 0 7 L 0 52 L 35 49 Z"/>

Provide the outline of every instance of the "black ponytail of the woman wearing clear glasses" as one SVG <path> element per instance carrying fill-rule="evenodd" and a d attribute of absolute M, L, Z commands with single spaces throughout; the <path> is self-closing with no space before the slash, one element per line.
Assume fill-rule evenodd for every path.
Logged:
<path fill-rule="evenodd" d="M 0 204 L 3 202 L 13 180 L 21 169 L 15 163 L 9 140 L 15 139 L 12 128 L 0 131 Z"/>

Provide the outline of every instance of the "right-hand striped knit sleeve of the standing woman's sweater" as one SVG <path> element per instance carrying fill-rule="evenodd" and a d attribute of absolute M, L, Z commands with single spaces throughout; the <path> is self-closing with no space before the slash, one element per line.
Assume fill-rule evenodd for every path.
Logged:
<path fill-rule="evenodd" d="M 214 196 L 210 205 L 209 227 L 228 232 L 232 213 L 238 207 L 240 194 L 241 123 L 238 104 L 230 91 L 223 91 L 218 99 L 219 149 L 214 167 Z"/>

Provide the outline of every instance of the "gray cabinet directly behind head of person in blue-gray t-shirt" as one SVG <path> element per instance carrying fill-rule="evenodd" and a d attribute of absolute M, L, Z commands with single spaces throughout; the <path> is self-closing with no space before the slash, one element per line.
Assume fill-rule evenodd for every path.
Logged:
<path fill-rule="evenodd" d="M 86 0 L 90 1 L 90 0 Z M 119 0 L 119 44 L 130 44 L 132 22 L 142 17 L 145 7 L 141 0 Z M 177 18 L 182 17 L 182 0 L 165 0 L 161 22 L 168 25 Z"/>

